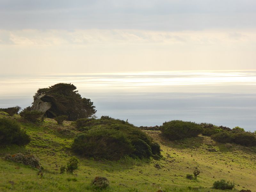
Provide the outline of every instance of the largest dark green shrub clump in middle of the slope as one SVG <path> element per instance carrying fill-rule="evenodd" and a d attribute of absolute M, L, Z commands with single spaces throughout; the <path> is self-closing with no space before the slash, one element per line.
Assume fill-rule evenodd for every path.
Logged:
<path fill-rule="evenodd" d="M 86 125 L 83 128 L 87 130 L 78 134 L 72 145 L 73 151 L 78 154 L 111 160 L 120 159 L 125 155 L 161 158 L 160 146 L 152 143 L 146 133 L 132 124 L 106 116 L 100 119 L 77 120 L 76 123 L 79 126 Z"/>

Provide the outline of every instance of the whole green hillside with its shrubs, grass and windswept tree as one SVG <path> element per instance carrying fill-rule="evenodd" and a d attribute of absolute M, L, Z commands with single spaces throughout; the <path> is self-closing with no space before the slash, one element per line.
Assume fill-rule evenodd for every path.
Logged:
<path fill-rule="evenodd" d="M 46 106 L 54 100 L 47 113 L 34 105 L 20 115 L 18 106 L 1 109 L 0 191 L 256 190 L 255 133 L 181 120 L 139 128 L 96 118 L 93 103 L 75 88 L 39 89 L 34 98 L 43 95 Z M 71 115 L 72 106 L 63 106 L 70 96 L 90 114 L 79 108 Z"/>

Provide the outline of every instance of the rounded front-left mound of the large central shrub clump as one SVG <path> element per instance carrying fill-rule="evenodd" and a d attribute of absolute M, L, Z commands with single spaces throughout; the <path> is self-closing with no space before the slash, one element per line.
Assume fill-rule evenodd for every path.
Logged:
<path fill-rule="evenodd" d="M 72 149 L 84 156 L 113 160 L 134 151 L 125 133 L 106 128 L 95 128 L 77 135 Z"/>

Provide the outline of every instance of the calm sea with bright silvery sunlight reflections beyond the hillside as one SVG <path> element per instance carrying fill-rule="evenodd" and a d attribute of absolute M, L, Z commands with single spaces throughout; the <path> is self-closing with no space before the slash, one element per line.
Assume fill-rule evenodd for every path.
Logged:
<path fill-rule="evenodd" d="M 180 119 L 256 131 L 256 70 L 0 74 L 0 108 L 33 102 L 38 88 L 76 85 L 98 117 L 137 126 Z"/>

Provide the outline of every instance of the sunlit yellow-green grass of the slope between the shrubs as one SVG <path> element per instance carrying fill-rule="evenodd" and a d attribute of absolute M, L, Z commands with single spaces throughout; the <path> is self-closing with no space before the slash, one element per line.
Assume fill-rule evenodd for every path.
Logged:
<path fill-rule="evenodd" d="M 34 154 L 45 168 L 44 176 L 36 176 L 36 169 L 0 158 L 0 191 L 95 191 L 90 186 L 95 176 L 110 181 L 110 188 L 103 191 L 219 191 L 211 186 L 220 179 L 234 180 L 236 189 L 245 187 L 256 191 L 256 153 L 252 148 L 239 145 L 226 148 L 203 136 L 171 142 L 162 138 L 159 131 L 145 131 L 161 144 L 164 159 L 126 158 L 111 162 L 79 157 L 81 165 L 75 175 L 59 174 L 60 166 L 74 155 L 69 148 L 71 135 L 76 131 L 70 122 L 58 125 L 52 119 L 45 119 L 41 124 L 21 124 L 31 136 L 31 142 L 26 147 L 0 148 L 0 156 L 18 152 Z M 63 129 L 72 130 L 71 135 L 60 134 Z M 207 148 L 215 148 L 217 152 L 208 152 Z M 156 163 L 162 169 L 156 169 Z M 202 171 L 198 179 L 186 179 L 186 174 L 192 174 L 195 167 Z"/>

